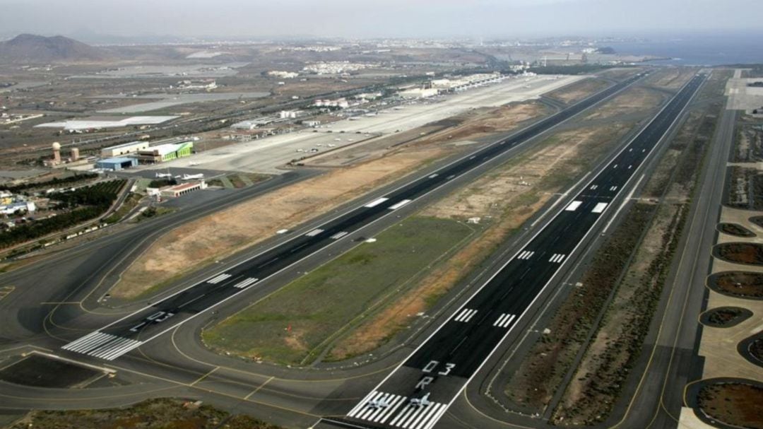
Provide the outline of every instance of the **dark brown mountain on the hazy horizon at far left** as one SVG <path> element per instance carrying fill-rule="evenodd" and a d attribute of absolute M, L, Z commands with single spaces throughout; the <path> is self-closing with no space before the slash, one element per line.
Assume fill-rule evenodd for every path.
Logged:
<path fill-rule="evenodd" d="M 0 61 L 4 63 L 55 63 L 102 60 L 108 51 L 69 37 L 44 37 L 19 34 L 0 42 Z"/>

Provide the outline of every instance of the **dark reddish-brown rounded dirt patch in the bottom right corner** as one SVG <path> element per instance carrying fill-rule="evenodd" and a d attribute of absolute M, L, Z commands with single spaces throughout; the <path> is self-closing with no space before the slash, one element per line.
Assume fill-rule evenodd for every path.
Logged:
<path fill-rule="evenodd" d="M 697 405 L 711 418 L 736 427 L 763 429 L 763 389 L 743 383 L 705 385 Z"/>

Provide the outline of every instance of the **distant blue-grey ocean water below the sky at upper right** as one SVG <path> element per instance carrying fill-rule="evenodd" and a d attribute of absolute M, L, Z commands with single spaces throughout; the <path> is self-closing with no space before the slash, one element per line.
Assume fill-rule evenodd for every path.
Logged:
<path fill-rule="evenodd" d="M 671 60 L 654 64 L 720 66 L 763 63 L 763 34 L 665 37 L 643 42 L 613 43 L 617 53 L 651 55 Z"/>

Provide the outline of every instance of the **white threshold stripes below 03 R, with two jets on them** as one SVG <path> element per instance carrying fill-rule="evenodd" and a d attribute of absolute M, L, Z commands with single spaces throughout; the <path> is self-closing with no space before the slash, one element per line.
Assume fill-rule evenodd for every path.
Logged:
<path fill-rule="evenodd" d="M 446 408 L 441 402 L 414 405 L 407 396 L 373 391 L 350 410 L 347 417 L 403 429 L 429 429 Z"/>

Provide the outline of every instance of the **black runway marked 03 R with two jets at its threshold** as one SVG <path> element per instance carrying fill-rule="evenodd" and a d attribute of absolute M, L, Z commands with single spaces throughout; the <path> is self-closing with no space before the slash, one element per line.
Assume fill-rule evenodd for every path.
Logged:
<path fill-rule="evenodd" d="M 433 427 L 603 218 L 705 78 L 687 82 L 546 227 L 358 402 L 347 421 L 359 427 Z"/>

